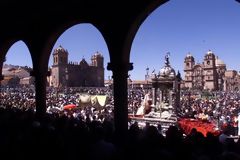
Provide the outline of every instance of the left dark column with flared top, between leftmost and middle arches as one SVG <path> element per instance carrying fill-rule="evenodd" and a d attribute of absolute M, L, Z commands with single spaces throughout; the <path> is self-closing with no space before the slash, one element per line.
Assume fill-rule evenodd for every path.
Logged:
<path fill-rule="evenodd" d="M 29 35 L 24 39 L 32 55 L 33 70 L 30 75 L 35 78 L 36 116 L 39 120 L 44 119 L 46 114 L 47 76 L 50 76 L 48 58 L 55 43 L 54 38 L 56 37 L 50 38 L 47 33 L 37 32 L 36 35 Z"/>

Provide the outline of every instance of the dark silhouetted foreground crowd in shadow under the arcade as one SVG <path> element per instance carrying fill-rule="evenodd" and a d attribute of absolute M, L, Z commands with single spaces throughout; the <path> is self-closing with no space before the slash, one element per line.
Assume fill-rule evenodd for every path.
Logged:
<path fill-rule="evenodd" d="M 186 137 L 177 126 L 163 136 L 161 126 L 130 125 L 121 145 L 112 119 L 100 122 L 59 114 L 38 120 L 33 110 L 0 108 L 0 152 L 8 159 L 163 159 L 239 160 L 240 141 L 192 129 Z"/>

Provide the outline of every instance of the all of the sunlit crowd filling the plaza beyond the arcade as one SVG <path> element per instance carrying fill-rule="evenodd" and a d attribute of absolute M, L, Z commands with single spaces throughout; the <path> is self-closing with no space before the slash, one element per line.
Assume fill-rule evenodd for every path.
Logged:
<path fill-rule="evenodd" d="M 143 103 L 146 103 L 146 95 L 150 92 L 144 89 L 129 89 L 128 111 L 136 114 Z M 104 107 L 80 106 L 81 94 L 107 95 L 108 99 Z M 149 98 L 149 96 L 148 96 Z M 150 99 L 150 98 L 149 98 Z M 176 114 L 180 118 L 194 118 L 214 122 L 218 128 L 230 125 L 238 126 L 238 115 L 240 113 L 239 92 L 214 92 L 211 97 L 203 97 L 199 92 L 185 91 L 181 94 L 180 105 L 176 108 Z M 64 106 L 74 104 L 74 110 L 64 110 Z M 109 87 L 102 88 L 47 88 L 46 95 L 47 113 L 66 114 L 74 117 L 90 117 L 102 120 L 104 117 L 113 117 L 114 99 Z M 18 108 L 22 110 L 35 110 L 34 87 L 1 88 L 0 107 Z M 145 110 L 146 107 L 144 108 Z M 237 129 L 232 135 L 237 135 Z"/>

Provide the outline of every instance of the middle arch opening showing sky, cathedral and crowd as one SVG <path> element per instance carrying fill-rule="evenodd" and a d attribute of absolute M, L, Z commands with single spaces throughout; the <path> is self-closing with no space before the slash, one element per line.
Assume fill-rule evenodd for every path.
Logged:
<path fill-rule="evenodd" d="M 112 98 L 111 85 L 105 83 L 111 81 L 106 69 L 109 60 L 106 43 L 93 25 L 67 29 L 56 41 L 49 61 L 47 112 L 65 111 L 68 105 L 76 112 L 104 109 Z"/>

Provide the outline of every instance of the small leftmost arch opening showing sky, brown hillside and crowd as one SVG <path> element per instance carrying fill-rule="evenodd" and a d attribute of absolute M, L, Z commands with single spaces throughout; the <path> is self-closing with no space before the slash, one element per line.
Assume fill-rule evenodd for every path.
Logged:
<path fill-rule="evenodd" d="M 30 52 L 23 41 L 17 41 L 8 50 L 3 63 L 1 106 L 35 111 L 35 86 Z"/>

